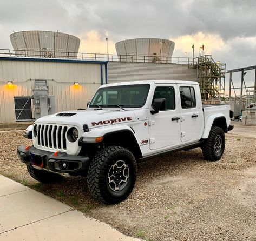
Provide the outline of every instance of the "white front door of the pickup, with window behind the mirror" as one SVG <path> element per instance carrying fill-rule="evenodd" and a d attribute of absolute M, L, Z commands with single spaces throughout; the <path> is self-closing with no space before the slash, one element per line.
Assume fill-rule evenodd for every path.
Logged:
<path fill-rule="evenodd" d="M 180 114 L 176 85 L 156 85 L 154 97 L 165 98 L 166 106 L 149 118 L 149 148 L 167 149 L 180 144 Z"/>

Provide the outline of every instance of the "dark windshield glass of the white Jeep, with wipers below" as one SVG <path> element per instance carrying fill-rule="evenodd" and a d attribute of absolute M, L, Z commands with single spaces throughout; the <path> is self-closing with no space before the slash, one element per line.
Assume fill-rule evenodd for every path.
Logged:
<path fill-rule="evenodd" d="M 149 84 L 120 85 L 100 88 L 95 93 L 89 107 L 142 107 L 145 105 L 149 88 Z"/>

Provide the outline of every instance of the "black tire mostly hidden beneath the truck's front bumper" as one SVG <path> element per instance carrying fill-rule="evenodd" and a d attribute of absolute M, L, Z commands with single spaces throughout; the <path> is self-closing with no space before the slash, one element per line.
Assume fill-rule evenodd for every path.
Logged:
<path fill-rule="evenodd" d="M 61 175 L 35 169 L 31 164 L 27 165 L 27 170 L 32 178 L 41 183 L 55 183 L 60 182 L 63 179 Z"/>

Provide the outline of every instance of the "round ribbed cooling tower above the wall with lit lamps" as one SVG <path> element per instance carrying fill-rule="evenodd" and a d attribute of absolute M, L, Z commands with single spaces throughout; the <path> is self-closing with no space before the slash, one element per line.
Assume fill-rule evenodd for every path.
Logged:
<path fill-rule="evenodd" d="M 77 58 L 80 39 L 62 32 L 21 31 L 10 35 L 16 56 Z"/>

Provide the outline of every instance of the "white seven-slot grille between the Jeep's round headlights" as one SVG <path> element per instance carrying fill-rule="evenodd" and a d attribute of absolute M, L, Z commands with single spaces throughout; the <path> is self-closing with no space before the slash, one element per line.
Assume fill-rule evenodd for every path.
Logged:
<path fill-rule="evenodd" d="M 37 142 L 39 146 L 54 150 L 67 150 L 67 126 L 37 124 Z"/>

